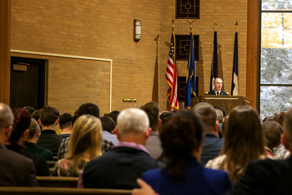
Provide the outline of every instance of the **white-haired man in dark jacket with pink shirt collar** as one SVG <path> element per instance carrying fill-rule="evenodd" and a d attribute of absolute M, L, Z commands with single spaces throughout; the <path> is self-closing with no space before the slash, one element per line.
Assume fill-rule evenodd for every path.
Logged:
<path fill-rule="evenodd" d="M 133 189 L 142 172 L 157 168 L 145 148 L 151 128 L 147 114 L 128 108 L 117 118 L 119 143 L 113 151 L 87 163 L 83 172 L 85 188 Z"/>

